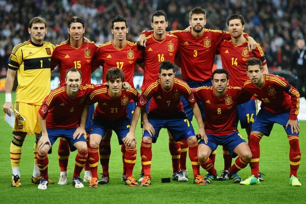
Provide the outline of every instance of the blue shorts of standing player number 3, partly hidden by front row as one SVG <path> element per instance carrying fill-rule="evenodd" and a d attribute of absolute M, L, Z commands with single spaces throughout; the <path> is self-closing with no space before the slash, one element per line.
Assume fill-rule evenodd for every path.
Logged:
<path fill-rule="evenodd" d="M 205 82 L 194 82 L 194 81 L 186 81 L 186 83 L 189 85 L 190 88 L 198 88 L 200 86 L 212 86 L 212 80 L 206 80 Z M 191 106 L 188 104 L 188 101 L 185 99 L 184 96 L 181 96 L 181 101 L 183 103 L 184 111 L 187 114 L 190 121 L 192 121 L 193 118 L 193 112 Z M 205 120 L 205 113 L 204 113 L 204 106 L 201 101 L 196 101 L 197 105 L 199 106 L 199 109 L 202 114 L 203 121 Z"/>

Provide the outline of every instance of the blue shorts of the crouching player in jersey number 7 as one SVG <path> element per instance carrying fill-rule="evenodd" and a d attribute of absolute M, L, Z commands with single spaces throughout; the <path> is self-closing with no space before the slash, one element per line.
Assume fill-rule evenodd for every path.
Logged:
<path fill-rule="evenodd" d="M 159 132 L 162 128 L 168 129 L 175 141 L 187 139 L 195 136 L 191 122 L 185 112 L 176 115 L 164 117 L 148 113 L 148 121 L 155 129 L 155 136 L 152 137 L 152 143 L 156 143 Z M 142 137 L 151 137 L 147 131 L 144 131 Z"/>

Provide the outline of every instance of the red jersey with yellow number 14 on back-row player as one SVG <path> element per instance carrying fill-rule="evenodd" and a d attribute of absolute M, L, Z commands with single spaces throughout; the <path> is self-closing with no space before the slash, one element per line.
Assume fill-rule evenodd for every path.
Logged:
<path fill-rule="evenodd" d="M 254 57 L 261 60 L 263 65 L 267 64 L 260 44 L 257 44 L 256 49 L 249 52 L 247 43 L 248 41 L 246 40 L 242 44 L 235 45 L 232 40 L 223 40 L 218 46 L 222 67 L 230 74 L 229 86 L 243 87 L 244 82 L 249 79 L 246 74 L 246 62 L 248 59 Z"/>

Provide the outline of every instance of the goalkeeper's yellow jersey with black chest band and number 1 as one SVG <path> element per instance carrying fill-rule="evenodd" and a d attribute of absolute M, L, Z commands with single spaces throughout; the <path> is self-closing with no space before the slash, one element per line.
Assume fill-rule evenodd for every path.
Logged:
<path fill-rule="evenodd" d="M 54 48 L 50 42 L 37 45 L 31 40 L 13 48 L 8 68 L 17 70 L 17 102 L 41 105 L 50 92 L 51 57 Z"/>

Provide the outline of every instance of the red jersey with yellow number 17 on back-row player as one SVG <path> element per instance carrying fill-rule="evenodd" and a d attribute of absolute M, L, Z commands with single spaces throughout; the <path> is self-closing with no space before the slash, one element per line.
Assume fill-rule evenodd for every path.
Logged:
<path fill-rule="evenodd" d="M 125 81 L 134 88 L 133 77 L 135 64 L 141 58 L 141 51 L 138 50 L 137 44 L 127 41 L 123 48 L 118 49 L 114 46 L 113 41 L 109 41 L 99 45 L 92 66 L 97 67 L 101 65 L 103 67 L 103 83 L 107 82 L 106 72 L 110 68 L 117 67 L 122 69 L 125 75 Z"/>

